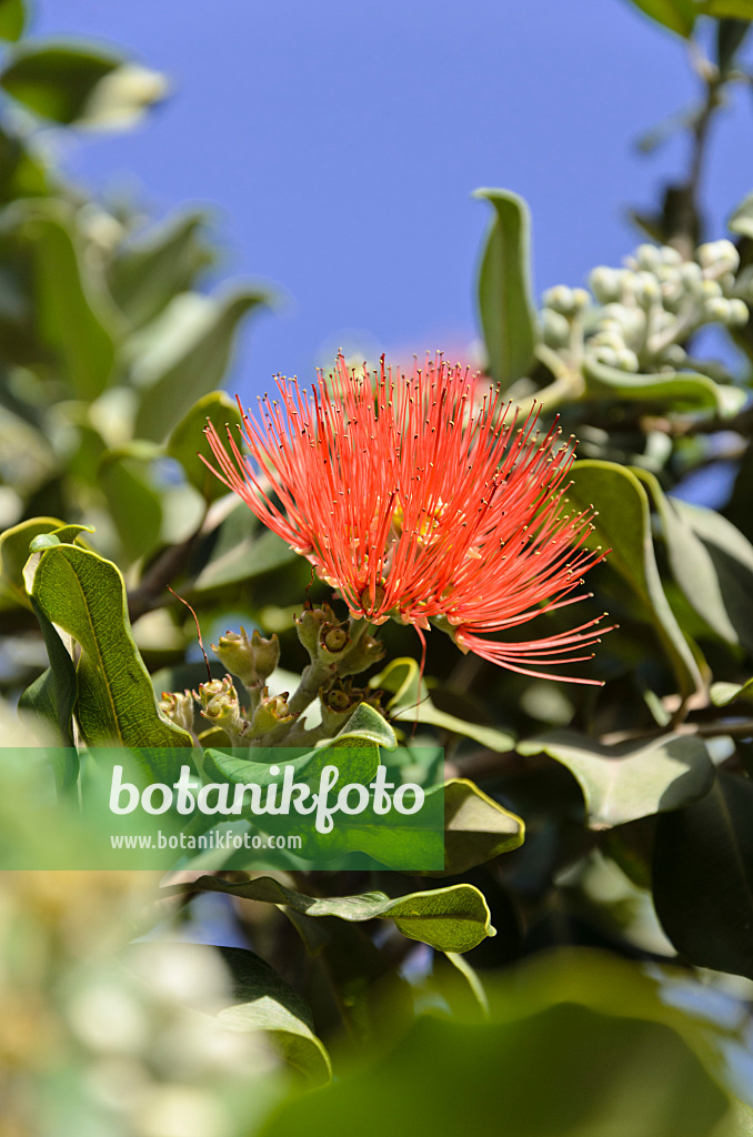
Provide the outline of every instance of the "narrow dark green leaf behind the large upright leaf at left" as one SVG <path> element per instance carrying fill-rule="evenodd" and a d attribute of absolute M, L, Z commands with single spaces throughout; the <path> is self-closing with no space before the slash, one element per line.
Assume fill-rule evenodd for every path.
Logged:
<path fill-rule="evenodd" d="M 33 598 L 32 606 L 44 638 L 50 666 L 26 688 L 18 700 L 18 706 L 44 719 L 61 747 L 73 747 L 75 739 L 72 719 L 78 697 L 76 669 L 65 644 Z M 73 753 L 75 754 L 75 750 Z M 63 757 L 55 752 L 53 756 L 56 760 L 61 760 L 61 764 L 60 761 L 56 761 L 55 765 L 58 790 L 67 792 L 78 774 L 77 762 L 72 762 L 67 755 Z"/>

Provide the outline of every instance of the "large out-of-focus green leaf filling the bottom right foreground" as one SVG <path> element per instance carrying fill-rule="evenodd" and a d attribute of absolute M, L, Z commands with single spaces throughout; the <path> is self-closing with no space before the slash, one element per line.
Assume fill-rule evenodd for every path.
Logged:
<path fill-rule="evenodd" d="M 394 1137 L 714 1137 L 730 1098 L 701 1031 L 643 978 L 590 952 L 490 976 L 491 1021 L 424 1015 L 369 1068 L 286 1102 L 258 1137 L 331 1137 L 354 1118 L 358 1137 L 382 1137 L 387 1114 Z"/>

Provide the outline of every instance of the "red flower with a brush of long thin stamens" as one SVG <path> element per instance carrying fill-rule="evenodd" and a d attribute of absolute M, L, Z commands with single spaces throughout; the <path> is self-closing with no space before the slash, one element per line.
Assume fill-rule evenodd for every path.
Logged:
<path fill-rule="evenodd" d="M 267 397 L 258 420 L 243 414 L 256 466 L 209 424 L 209 468 L 355 616 L 433 621 L 463 650 L 555 678 L 539 669 L 590 658 L 573 653 L 597 641 L 598 620 L 524 642 L 483 637 L 582 599 L 572 592 L 604 554 L 584 548 L 591 512 L 563 501 L 570 442 L 556 424 L 535 433 L 538 410 L 507 421 L 479 385 L 442 359 L 396 381 L 383 357 L 372 380 L 339 356 L 329 381 L 278 379 L 282 405 Z"/>

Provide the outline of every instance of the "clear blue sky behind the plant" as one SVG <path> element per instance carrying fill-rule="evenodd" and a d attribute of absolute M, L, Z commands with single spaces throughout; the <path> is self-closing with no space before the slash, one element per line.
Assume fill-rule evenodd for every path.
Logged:
<path fill-rule="evenodd" d="M 142 128 L 65 161 L 158 214 L 217 207 L 226 272 L 283 291 L 243 338 L 247 398 L 339 345 L 458 355 L 478 332 L 477 186 L 528 199 L 538 293 L 618 264 L 638 240 L 626 207 L 685 169 L 684 140 L 632 148 L 696 89 L 684 44 L 627 0 L 39 0 L 34 27 L 169 75 Z M 711 148 L 714 235 L 753 189 L 752 128 L 740 92 Z"/>

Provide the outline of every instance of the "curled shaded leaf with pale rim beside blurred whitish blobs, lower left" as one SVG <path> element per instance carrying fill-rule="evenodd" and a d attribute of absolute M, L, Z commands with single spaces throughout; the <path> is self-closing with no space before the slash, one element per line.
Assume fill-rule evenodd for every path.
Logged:
<path fill-rule="evenodd" d="M 254 952 L 237 947 L 206 947 L 204 944 L 155 941 L 131 944 L 124 953 L 126 965 L 150 982 L 165 968 L 184 969 L 200 974 L 208 969 L 212 978 L 216 953 L 227 972 L 226 989 L 189 993 L 188 1003 L 210 1013 L 231 1030 L 263 1031 L 266 1040 L 296 1070 L 316 1086 L 331 1078 L 326 1049 L 314 1034 L 314 1020 L 306 1001 Z"/>

